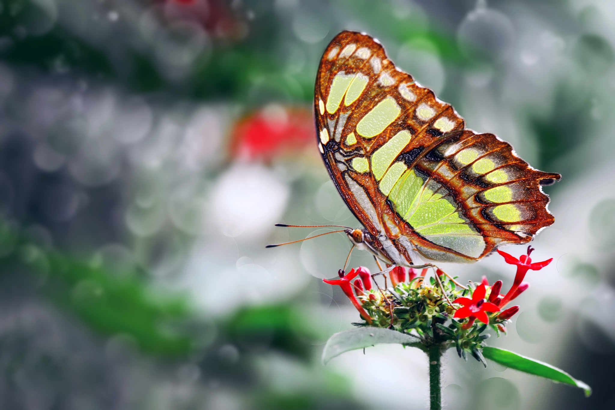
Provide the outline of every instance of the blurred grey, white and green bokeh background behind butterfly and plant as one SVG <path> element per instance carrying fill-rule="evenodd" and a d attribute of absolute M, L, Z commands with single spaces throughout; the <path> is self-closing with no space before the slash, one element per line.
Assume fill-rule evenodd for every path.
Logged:
<path fill-rule="evenodd" d="M 427 408 L 419 350 L 320 363 L 359 318 L 321 281 L 344 235 L 264 248 L 327 232 L 274 223 L 359 226 L 311 111 L 344 29 L 563 175 L 533 242 L 554 262 L 490 344 L 593 395 L 450 351 L 446 408 L 615 408 L 615 3 L 597 0 L 0 1 L 0 408 Z M 514 277 L 498 256 L 443 267 Z"/>

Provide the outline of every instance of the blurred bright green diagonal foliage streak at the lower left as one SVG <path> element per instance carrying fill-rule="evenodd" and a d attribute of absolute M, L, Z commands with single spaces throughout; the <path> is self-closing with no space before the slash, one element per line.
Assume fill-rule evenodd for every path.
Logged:
<path fill-rule="evenodd" d="M 43 250 L 10 232 L 6 223 L 3 226 L 0 242 L 9 253 L 0 259 L 0 272 L 25 267 L 38 275 L 41 290 L 58 306 L 102 334 L 132 337 L 144 352 L 185 356 L 191 351 L 191 339 L 185 332 L 164 326 L 188 317 L 185 299 L 148 293 L 145 282 L 136 275 L 120 276 L 57 251 Z"/>

